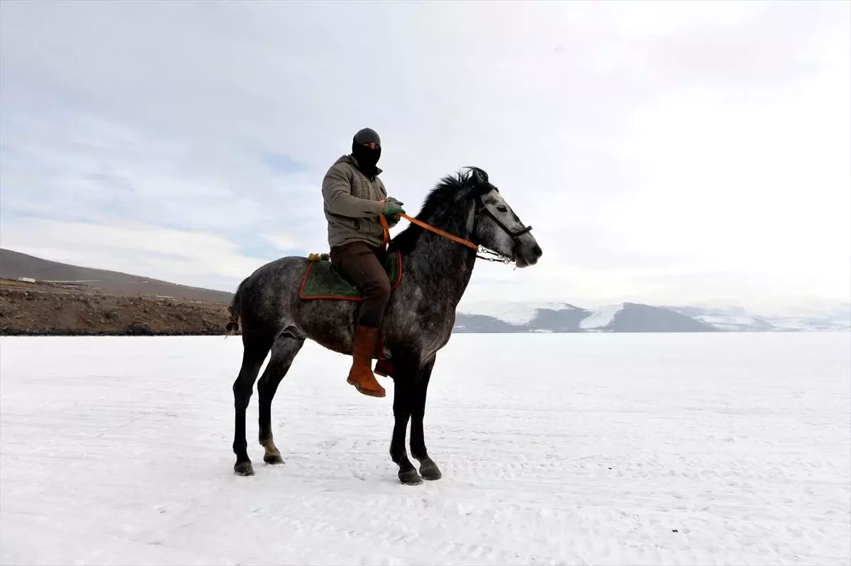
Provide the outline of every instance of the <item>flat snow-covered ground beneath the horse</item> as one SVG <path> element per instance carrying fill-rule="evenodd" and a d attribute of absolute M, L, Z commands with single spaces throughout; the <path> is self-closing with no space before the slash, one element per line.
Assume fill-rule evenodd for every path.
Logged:
<path fill-rule="evenodd" d="M 309 343 L 233 475 L 239 339 L 0 339 L 3 564 L 848 564 L 851 334 L 457 335 L 391 397 Z M 391 391 L 391 382 L 383 380 Z"/>

